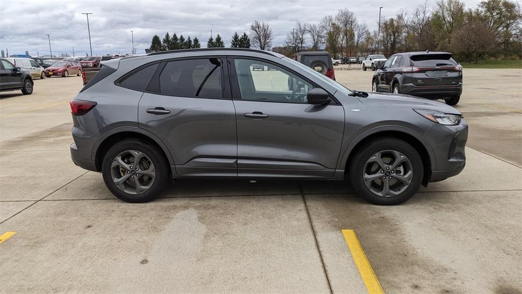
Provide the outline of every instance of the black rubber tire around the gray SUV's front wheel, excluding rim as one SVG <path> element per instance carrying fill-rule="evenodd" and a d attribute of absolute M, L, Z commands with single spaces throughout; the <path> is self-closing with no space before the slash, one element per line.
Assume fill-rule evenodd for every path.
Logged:
<path fill-rule="evenodd" d="M 411 182 L 397 196 L 377 196 L 366 187 L 363 179 L 366 162 L 377 152 L 386 150 L 398 151 L 404 154 L 411 163 Z M 375 205 L 397 205 L 405 202 L 417 193 L 424 177 L 424 166 L 419 153 L 410 144 L 397 138 L 385 137 L 366 142 L 358 148 L 350 161 L 349 172 L 353 189 L 368 202 Z"/>

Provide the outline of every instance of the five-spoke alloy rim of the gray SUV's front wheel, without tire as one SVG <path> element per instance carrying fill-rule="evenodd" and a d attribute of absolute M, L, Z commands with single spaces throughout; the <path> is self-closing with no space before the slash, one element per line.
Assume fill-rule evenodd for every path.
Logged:
<path fill-rule="evenodd" d="M 395 150 L 379 151 L 366 161 L 363 169 L 366 188 L 379 197 L 394 197 L 411 183 L 413 168 L 404 154 Z"/>

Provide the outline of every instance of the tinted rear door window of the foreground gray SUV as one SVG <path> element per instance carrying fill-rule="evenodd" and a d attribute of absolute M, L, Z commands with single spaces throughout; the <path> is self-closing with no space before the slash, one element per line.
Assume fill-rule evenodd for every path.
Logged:
<path fill-rule="evenodd" d="M 159 76 L 162 95 L 223 98 L 221 60 L 169 61 Z"/>

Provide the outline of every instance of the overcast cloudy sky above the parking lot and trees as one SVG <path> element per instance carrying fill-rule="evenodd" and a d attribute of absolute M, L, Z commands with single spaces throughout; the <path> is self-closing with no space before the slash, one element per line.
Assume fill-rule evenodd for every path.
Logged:
<path fill-rule="evenodd" d="M 295 21 L 318 22 L 325 15 L 335 15 L 338 8 L 352 10 L 359 21 L 370 29 L 377 28 L 379 6 L 383 17 L 395 16 L 401 8 L 411 13 L 425 0 L 385 1 L 8 1 L 0 2 L 0 49 L 9 54 L 29 51 L 36 56 L 49 54 L 46 34 L 51 35 L 54 55 L 60 53 L 85 56 L 89 52 L 87 19 L 89 15 L 92 53 L 130 53 L 131 30 L 134 47 L 144 53 L 152 36 L 161 38 L 165 32 L 181 33 L 186 38 L 198 37 L 202 47 L 210 37 L 210 30 L 230 46 L 234 31 L 248 32 L 252 21 L 266 21 L 274 30 L 274 46 L 284 43 Z M 464 0 L 467 8 L 480 0 Z M 433 7 L 435 0 L 428 0 Z"/>

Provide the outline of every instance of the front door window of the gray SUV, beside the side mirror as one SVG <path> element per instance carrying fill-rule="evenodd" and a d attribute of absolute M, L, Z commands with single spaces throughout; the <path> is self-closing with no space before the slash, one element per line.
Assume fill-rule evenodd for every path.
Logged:
<path fill-rule="evenodd" d="M 241 98 L 244 100 L 307 103 L 313 86 L 302 78 L 267 62 L 234 59 Z"/>

